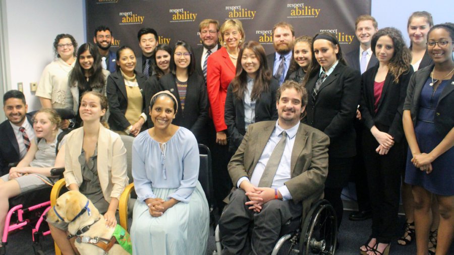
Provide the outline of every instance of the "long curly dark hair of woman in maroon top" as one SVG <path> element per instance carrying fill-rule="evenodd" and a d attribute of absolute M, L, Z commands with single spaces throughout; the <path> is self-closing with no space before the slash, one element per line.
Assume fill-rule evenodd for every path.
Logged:
<path fill-rule="evenodd" d="M 372 53 L 375 53 L 375 46 L 377 41 L 382 36 L 388 36 L 391 38 L 394 44 L 394 55 L 391 57 L 388 63 L 388 69 L 392 76 L 394 76 L 394 82 L 399 82 L 399 77 L 410 70 L 410 63 L 412 61 L 412 53 L 405 44 L 402 32 L 399 29 L 393 27 L 385 27 L 372 36 L 371 49 Z"/>

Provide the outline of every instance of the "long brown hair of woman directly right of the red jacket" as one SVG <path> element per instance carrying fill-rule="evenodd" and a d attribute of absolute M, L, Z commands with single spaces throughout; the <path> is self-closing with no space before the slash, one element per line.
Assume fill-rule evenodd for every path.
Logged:
<path fill-rule="evenodd" d="M 268 91 L 269 82 L 271 81 L 271 71 L 268 70 L 265 50 L 263 49 L 263 46 L 256 41 L 246 42 L 238 54 L 237 72 L 235 78 L 232 80 L 232 92 L 238 99 L 243 99 L 247 88 L 247 73 L 241 65 L 241 58 L 245 49 L 252 50 L 260 62 L 260 67 L 257 70 L 257 77 L 251 91 L 251 100 L 256 100 L 260 98 L 262 92 Z"/>

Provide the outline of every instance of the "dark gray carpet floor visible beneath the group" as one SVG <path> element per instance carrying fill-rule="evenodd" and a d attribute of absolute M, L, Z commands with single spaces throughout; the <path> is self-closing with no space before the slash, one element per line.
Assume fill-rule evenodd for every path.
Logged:
<path fill-rule="evenodd" d="M 341 246 L 336 254 L 359 254 L 359 247 L 367 240 L 370 234 L 371 220 L 366 221 L 350 221 L 348 220 L 349 212 L 344 212 L 344 220 L 339 231 L 338 240 Z M 404 219 L 400 218 L 400 225 L 404 224 Z M 211 228 L 211 234 L 208 240 L 207 254 L 212 254 L 215 249 L 214 235 Z M 396 234 L 401 234 L 402 231 Z M 54 254 L 53 242 L 50 236 L 40 238 L 42 245 L 42 254 Z M 450 254 L 454 254 L 454 247 L 450 249 Z M 395 241 L 391 244 L 390 254 L 415 254 L 416 244 L 413 242 L 408 246 L 401 246 Z M 34 254 L 31 228 L 25 227 L 21 231 L 12 233 L 8 237 L 8 245 L 6 245 L 6 254 L 8 255 L 27 255 Z"/>

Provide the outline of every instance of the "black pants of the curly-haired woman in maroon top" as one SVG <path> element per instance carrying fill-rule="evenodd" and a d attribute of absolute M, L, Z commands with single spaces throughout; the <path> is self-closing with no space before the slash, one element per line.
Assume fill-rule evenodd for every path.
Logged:
<path fill-rule="evenodd" d="M 379 155 L 375 152 L 378 145 L 373 135 L 365 130 L 363 152 L 372 206 L 372 237 L 378 242 L 389 243 L 398 226 L 404 146 L 394 143 L 386 155 Z"/>

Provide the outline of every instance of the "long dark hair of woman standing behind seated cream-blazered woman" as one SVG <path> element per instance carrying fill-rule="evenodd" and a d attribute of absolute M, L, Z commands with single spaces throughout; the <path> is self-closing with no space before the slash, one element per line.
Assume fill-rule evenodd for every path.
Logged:
<path fill-rule="evenodd" d="M 83 54 L 85 51 L 90 52 L 90 54 L 93 56 L 93 66 L 89 70 L 90 72 L 90 79 L 88 80 L 89 88 L 85 88 L 86 81 L 85 69 L 82 68 L 79 62 L 80 55 Z M 69 84 L 71 86 L 77 85 L 81 90 L 104 87 L 105 77 L 102 74 L 101 54 L 99 54 L 98 47 L 95 46 L 93 43 L 91 42 L 84 43 L 80 45 L 79 49 L 77 50 L 77 59 L 69 77 Z"/>

